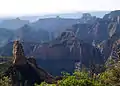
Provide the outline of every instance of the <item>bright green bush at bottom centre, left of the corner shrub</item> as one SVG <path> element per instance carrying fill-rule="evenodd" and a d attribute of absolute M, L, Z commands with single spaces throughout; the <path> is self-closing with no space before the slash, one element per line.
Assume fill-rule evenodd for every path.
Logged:
<path fill-rule="evenodd" d="M 89 77 L 89 73 L 83 71 L 76 71 L 72 75 L 64 73 L 63 77 L 57 84 L 43 82 L 36 86 L 105 86 L 98 78 L 91 78 Z"/>

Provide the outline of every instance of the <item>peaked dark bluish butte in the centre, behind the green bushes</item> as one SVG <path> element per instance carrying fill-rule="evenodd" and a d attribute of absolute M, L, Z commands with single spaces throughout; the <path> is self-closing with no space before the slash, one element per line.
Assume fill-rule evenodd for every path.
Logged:
<path fill-rule="evenodd" d="M 91 63 L 104 63 L 99 49 L 79 40 L 73 31 L 63 32 L 57 39 L 37 47 L 33 55 L 42 67 L 55 75 L 60 71 L 72 72 L 76 62 L 86 67 Z"/>

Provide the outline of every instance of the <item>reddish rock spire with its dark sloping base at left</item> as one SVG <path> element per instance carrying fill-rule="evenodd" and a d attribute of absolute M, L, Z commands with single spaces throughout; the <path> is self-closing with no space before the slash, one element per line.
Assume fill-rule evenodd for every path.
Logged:
<path fill-rule="evenodd" d="M 42 68 L 38 67 L 34 58 L 27 59 L 22 44 L 15 41 L 13 45 L 13 64 L 4 73 L 12 79 L 13 86 L 33 86 L 43 81 L 52 83 L 55 78 Z"/>

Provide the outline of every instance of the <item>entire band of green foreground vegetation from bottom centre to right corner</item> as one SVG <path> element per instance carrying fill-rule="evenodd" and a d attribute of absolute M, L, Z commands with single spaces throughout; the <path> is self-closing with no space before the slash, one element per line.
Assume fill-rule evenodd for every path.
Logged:
<path fill-rule="evenodd" d="M 75 71 L 72 75 L 63 73 L 63 79 L 57 84 L 47 84 L 45 82 L 35 86 L 120 86 L 120 61 L 107 64 L 106 70 L 99 74 L 87 71 Z"/>

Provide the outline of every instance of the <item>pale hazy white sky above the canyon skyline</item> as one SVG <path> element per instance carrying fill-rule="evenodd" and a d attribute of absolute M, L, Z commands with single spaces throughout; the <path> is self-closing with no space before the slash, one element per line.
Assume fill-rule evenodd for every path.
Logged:
<path fill-rule="evenodd" d="M 0 16 L 120 9 L 120 0 L 0 0 Z"/>

